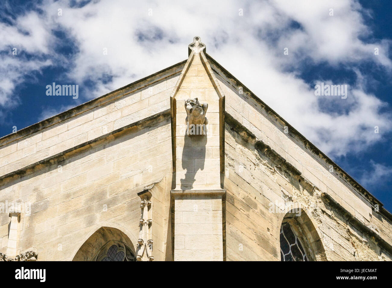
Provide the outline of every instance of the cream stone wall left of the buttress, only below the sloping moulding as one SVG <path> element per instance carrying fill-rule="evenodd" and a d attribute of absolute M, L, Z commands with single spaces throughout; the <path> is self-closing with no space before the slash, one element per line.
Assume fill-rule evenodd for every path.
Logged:
<path fill-rule="evenodd" d="M 169 183 L 159 184 L 164 185 L 163 193 L 152 199 L 156 209 L 152 231 L 158 238 L 154 253 L 163 259 L 170 203 L 170 193 L 164 191 L 170 191 L 172 165 L 169 119 L 3 185 L 3 201 L 32 203 L 31 216 L 21 215 L 17 250 L 34 250 L 39 260 L 72 260 L 87 235 L 112 224 L 120 226 L 136 245 L 140 219 L 137 193 L 146 185 L 168 179 Z M 5 253 L 8 214 L 2 215 L 0 223 L 0 251 Z"/>

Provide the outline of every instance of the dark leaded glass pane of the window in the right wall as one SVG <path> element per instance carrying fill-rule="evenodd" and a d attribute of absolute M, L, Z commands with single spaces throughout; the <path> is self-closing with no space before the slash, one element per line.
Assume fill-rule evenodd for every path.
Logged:
<path fill-rule="evenodd" d="M 309 261 L 298 235 L 287 222 L 283 222 L 280 227 L 280 259 L 281 261 Z"/>

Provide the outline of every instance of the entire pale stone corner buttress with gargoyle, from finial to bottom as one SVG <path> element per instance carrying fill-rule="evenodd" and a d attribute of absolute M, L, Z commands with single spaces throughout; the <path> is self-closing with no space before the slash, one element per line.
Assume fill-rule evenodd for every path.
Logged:
<path fill-rule="evenodd" d="M 171 96 L 174 260 L 225 259 L 224 95 L 199 37 Z"/>

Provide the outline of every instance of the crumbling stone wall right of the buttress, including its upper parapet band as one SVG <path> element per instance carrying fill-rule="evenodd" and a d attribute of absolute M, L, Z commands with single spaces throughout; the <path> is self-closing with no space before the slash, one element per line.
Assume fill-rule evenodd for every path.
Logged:
<path fill-rule="evenodd" d="M 323 159 L 285 134 L 286 123 L 225 79 L 218 77 L 226 109 L 227 260 L 280 260 L 279 230 L 288 209 L 271 213 L 273 207 L 279 212 L 276 205 L 303 208 L 312 226 L 311 245 L 318 247 L 321 239 L 325 250 L 317 248 L 318 260 L 392 259 L 390 221 L 330 173 Z"/>

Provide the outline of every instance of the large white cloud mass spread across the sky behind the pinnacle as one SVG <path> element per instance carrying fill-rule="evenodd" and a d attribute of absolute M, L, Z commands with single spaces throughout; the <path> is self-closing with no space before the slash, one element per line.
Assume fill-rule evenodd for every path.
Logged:
<path fill-rule="evenodd" d="M 305 83 L 296 72 L 307 60 L 346 67 L 373 62 L 390 74 L 392 62 L 385 54 L 390 42 L 361 41 L 371 31 L 361 16 L 361 12 L 368 11 L 363 11 L 356 1 L 222 4 L 121 0 L 93 1 L 82 8 L 71 8 L 68 1 L 47 0 L 41 8 L 44 14 L 28 12 L 15 20 L 15 26 L 0 24 L 0 50 L 17 44 L 29 53 L 51 59 L 33 60 L 26 65 L 21 58 L 6 56 L 9 64 L 0 64 L 6 79 L 5 89 L 0 91 L 0 105 L 10 99 L 24 75 L 51 63 L 65 65 L 66 60 L 54 52 L 54 47 L 62 43 L 53 36 L 53 29 L 67 31 L 79 49 L 74 58 L 67 60 L 71 64 L 67 77 L 77 84 L 84 80 L 96 83 L 95 89 L 84 95 L 85 100 L 185 60 L 187 45 L 198 35 L 206 44 L 207 53 L 330 156 L 361 151 L 391 130 L 390 116 L 379 111 L 385 103 L 365 92 L 366 75 L 356 68 L 352 69 L 359 77 L 346 100 L 331 96 L 321 101 L 309 87 L 311 83 Z M 62 9 L 62 16 L 57 15 L 58 8 Z M 330 8 L 334 9 L 334 16 L 329 16 Z M 239 16 L 239 9 L 243 9 L 243 16 Z M 301 29 L 292 29 L 293 21 Z M 11 34 L 12 38 L 7 38 Z M 287 56 L 283 55 L 285 47 L 289 48 Z M 377 56 L 374 47 L 379 47 Z M 104 48 L 107 55 L 103 54 Z M 289 68 L 294 72 L 287 72 Z M 113 76 L 113 81 L 103 83 L 105 75 Z M 325 103 L 339 109 L 326 110 Z M 380 134 L 374 133 L 376 125 Z"/>

